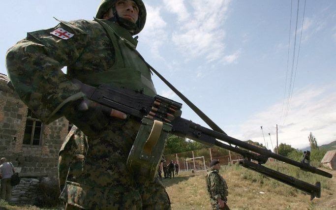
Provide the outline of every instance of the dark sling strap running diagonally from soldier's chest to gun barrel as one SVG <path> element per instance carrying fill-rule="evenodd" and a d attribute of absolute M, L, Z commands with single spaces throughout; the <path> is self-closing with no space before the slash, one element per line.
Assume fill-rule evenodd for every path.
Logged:
<path fill-rule="evenodd" d="M 211 129 L 219 133 L 227 135 L 213 120 L 211 120 L 206 114 L 204 114 L 197 106 L 195 106 L 189 99 L 187 99 L 179 90 L 177 90 L 170 82 L 168 82 L 159 72 L 157 72 L 146 60 L 140 55 L 140 53 L 134 49 L 134 51 L 140 56 L 140 58 L 148 65 L 148 67 L 171 89 L 173 90 L 183 101 L 188 105 L 205 123 L 207 123 Z"/>

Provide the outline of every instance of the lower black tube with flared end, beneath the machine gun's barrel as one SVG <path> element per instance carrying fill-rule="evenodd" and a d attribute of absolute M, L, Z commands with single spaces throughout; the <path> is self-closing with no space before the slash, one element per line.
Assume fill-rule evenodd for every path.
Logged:
<path fill-rule="evenodd" d="M 302 180 L 297 180 L 294 177 L 282 174 L 278 171 L 269 169 L 265 166 L 262 166 L 260 164 L 253 163 L 247 159 L 244 159 L 243 161 L 239 162 L 240 165 L 244 166 L 245 168 L 251 169 L 253 171 L 256 171 L 258 173 L 261 173 L 265 176 L 271 177 L 275 180 L 281 181 L 285 184 L 288 184 L 290 186 L 293 186 L 297 189 L 300 189 L 308 194 L 310 194 L 310 200 L 313 198 L 321 197 L 321 183 L 318 181 L 316 182 L 316 185 L 309 184 Z"/>

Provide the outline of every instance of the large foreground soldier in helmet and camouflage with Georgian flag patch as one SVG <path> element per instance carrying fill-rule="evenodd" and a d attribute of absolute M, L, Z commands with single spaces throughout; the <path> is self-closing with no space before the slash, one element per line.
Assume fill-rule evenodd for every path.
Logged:
<path fill-rule="evenodd" d="M 11 47 L 6 67 L 20 98 L 48 124 L 65 116 L 72 127 L 60 150 L 60 199 L 65 209 L 171 209 L 157 177 L 138 183 L 126 160 L 140 123 L 93 103 L 72 79 L 156 91 L 151 72 L 135 51 L 146 21 L 142 0 L 102 0 L 93 21 L 59 21 L 28 32 Z M 61 68 L 67 66 L 67 74 Z"/>

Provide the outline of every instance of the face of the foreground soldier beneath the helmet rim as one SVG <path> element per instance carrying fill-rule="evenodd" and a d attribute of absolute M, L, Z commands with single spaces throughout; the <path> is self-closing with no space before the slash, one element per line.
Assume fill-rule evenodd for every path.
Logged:
<path fill-rule="evenodd" d="M 132 0 L 117 0 L 116 10 L 119 17 L 136 23 L 139 18 L 138 5 Z"/>

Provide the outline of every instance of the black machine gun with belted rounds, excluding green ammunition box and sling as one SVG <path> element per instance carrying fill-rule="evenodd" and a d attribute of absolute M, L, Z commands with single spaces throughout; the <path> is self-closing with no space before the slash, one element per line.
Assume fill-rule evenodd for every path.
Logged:
<path fill-rule="evenodd" d="M 182 104 L 171 99 L 160 95 L 151 97 L 134 90 L 116 88 L 107 85 L 100 85 L 98 88 L 94 88 L 75 79 L 73 79 L 72 82 L 77 84 L 81 91 L 84 92 L 89 99 L 101 105 L 124 112 L 139 121 L 144 117 L 147 117 L 169 123 L 172 125 L 171 133 L 177 136 L 192 139 L 209 146 L 215 145 L 239 153 L 244 157 L 244 160 L 240 161 L 240 165 L 298 188 L 310 194 L 311 200 L 314 197 L 321 197 L 321 184 L 319 181 L 316 182 L 315 185 L 312 185 L 264 167 L 262 164 L 266 163 L 268 158 L 271 157 L 297 166 L 307 172 L 315 173 L 328 178 L 333 177 L 330 173 L 310 166 L 309 161 L 305 162 L 305 160 L 309 160 L 309 152 L 305 153 L 305 157 L 301 162 L 297 162 L 282 155 L 275 154 L 271 150 L 259 148 L 230 137 L 218 127 L 216 127 L 216 129 L 219 132 L 203 127 L 191 120 L 183 119 L 181 118 Z M 224 144 L 223 142 L 226 142 L 229 145 Z M 232 145 L 235 145 L 235 147 Z M 254 163 L 252 160 L 257 161 L 258 163 Z"/>

